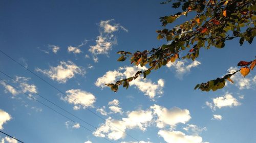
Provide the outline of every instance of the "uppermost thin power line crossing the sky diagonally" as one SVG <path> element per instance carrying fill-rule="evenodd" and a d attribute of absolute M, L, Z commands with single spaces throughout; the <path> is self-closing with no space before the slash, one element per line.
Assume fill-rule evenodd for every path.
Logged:
<path fill-rule="evenodd" d="M 58 92 L 62 93 L 63 95 L 67 96 L 70 98 L 70 96 L 68 96 L 66 93 L 60 91 L 59 89 L 57 89 L 56 87 L 54 87 L 54 85 L 52 85 L 51 83 L 49 83 L 48 81 L 46 81 L 45 79 L 41 78 L 39 75 L 37 75 L 36 73 L 34 73 L 33 71 L 31 71 L 30 69 L 26 68 L 25 66 L 23 66 L 22 64 L 20 64 L 19 62 L 17 62 L 16 60 L 14 60 L 13 58 L 11 58 L 11 56 L 9 56 L 8 54 L 6 54 L 5 52 L 3 52 L 2 50 L 0 50 L 0 52 L 2 52 L 4 55 L 6 55 L 9 59 L 11 59 L 12 61 L 14 61 L 15 63 L 17 63 L 18 65 L 22 66 L 24 69 L 26 69 L 27 71 L 29 71 L 30 73 L 32 73 L 33 75 L 35 75 L 36 77 L 38 77 L 39 79 L 41 79 L 42 81 L 46 82 L 47 84 L 49 84 L 52 88 L 54 88 L 55 90 L 57 90 Z M 110 125 L 112 125 L 110 122 L 106 121 L 104 118 L 102 118 L 101 116 L 99 116 L 97 113 L 95 113 L 94 111 L 90 110 L 89 108 L 87 108 L 86 106 L 82 105 L 81 103 L 77 102 L 76 99 L 74 99 L 74 101 L 79 104 L 80 106 L 86 108 L 88 111 L 90 111 L 91 113 L 93 113 L 95 116 L 97 116 L 98 118 L 100 118 L 101 120 L 105 121 L 106 123 L 109 123 Z M 120 130 L 121 132 L 123 132 L 124 134 L 130 136 L 131 138 L 135 139 L 136 141 L 139 142 L 138 139 L 134 138 L 133 136 L 131 136 L 130 134 L 124 132 L 123 130 L 119 129 L 118 127 L 116 127 L 115 125 L 112 125 L 113 127 L 115 127 L 116 129 Z"/>

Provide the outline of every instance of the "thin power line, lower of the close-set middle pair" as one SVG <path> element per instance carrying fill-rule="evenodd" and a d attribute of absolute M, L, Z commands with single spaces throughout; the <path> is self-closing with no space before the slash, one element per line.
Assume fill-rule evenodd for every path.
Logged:
<path fill-rule="evenodd" d="M 27 95 L 29 98 L 32 98 L 33 100 L 37 101 L 38 103 L 40 103 L 40 104 L 42 104 L 42 105 L 48 107 L 49 109 L 51 109 L 51 110 L 57 112 L 57 113 L 58 113 L 59 115 L 61 115 L 62 117 L 65 117 L 65 118 L 67 118 L 68 120 L 72 121 L 73 123 L 76 123 L 74 120 L 72 120 L 72 119 L 70 119 L 69 117 L 63 115 L 62 113 L 60 113 L 60 112 L 58 112 L 57 110 L 53 109 L 52 107 L 46 105 L 45 103 L 42 103 L 41 101 L 37 100 L 37 99 L 34 98 L 33 96 L 30 96 L 29 94 L 27 94 L 27 93 L 25 93 L 25 92 L 19 90 L 18 88 L 14 87 L 14 85 L 8 83 L 7 81 L 3 80 L 2 78 L 0 78 L 0 80 L 2 80 L 3 82 L 5 82 L 6 84 L 10 85 L 12 88 L 16 89 L 17 91 L 20 91 L 20 92 L 22 92 L 23 94 Z M 83 125 L 80 125 L 80 126 L 83 127 L 84 129 L 87 129 L 87 130 L 90 131 L 90 132 L 93 132 L 92 130 L 88 129 L 87 127 L 84 127 Z M 103 137 L 103 136 L 101 136 L 101 137 Z M 105 138 L 105 137 L 103 137 L 103 138 L 104 138 L 105 140 L 108 140 L 109 142 L 112 142 L 112 141 L 109 140 L 108 138 Z M 114 142 L 112 142 L 112 143 L 114 143 Z"/>

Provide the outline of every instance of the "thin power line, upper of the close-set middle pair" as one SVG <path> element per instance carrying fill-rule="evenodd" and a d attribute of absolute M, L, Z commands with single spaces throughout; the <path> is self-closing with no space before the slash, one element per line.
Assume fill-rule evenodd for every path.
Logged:
<path fill-rule="evenodd" d="M 64 109 L 63 107 L 61 107 L 61 106 L 55 104 L 54 102 L 52 102 L 51 100 L 45 98 L 44 96 L 41 96 L 41 95 L 38 94 L 37 92 L 35 92 L 35 91 L 29 89 L 25 84 L 23 84 L 23 83 L 21 83 L 21 82 L 19 82 L 19 81 L 16 81 L 16 80 L 13 79 L 11 76 L 9 76 L 8 74 L 4 73 L 3 71 L 0 70 L 0 72 L 1 72 L 2 74 L 6 75 L 7 77 L 11 78 L 11 79 L 12 79 L 13 81 L 15 81 L 16 83 L 19 83 L 20 85 L 22 85 L 23 87 L 25 87 L 25 88 L 28 89 L 29 91 L 31 91 L 31 92 L 33 92 L 34 94 L 38 95 L 38 96 L 41 97 L 42 99 L 44 99 L 44 100 L 50 102 L 51 104 L 57 106 L 57 107 L 60 108 L 61 110 L 63 110 L 63 111 L 65 111 L 65 112 L 69 113 L 71 116 L 75 117 L 76 119 L 79 119 L 79 120 L 82 121 L 83 123 L 86 123 L 87 125 L 89 125 L 89 126 L 95 128 L 96 130 L 101 131 L 100 129 L 98 129 L 97 127 L 93 126 L 92 124 L 90 124 L 90 123 L 84 121 L 83 119 L 81 119 L 81 118 L 75 116 L 75 115 L 74 115 L 73 113 L 71 113 L 70 111 L 68 111 L 68 110 Z M 111 136 L 111 137 L 114 138 L 113 136 Z M 117 139 L 117 140 L 120 141 L 119 139 Z M 120 141 L 120 142 L 121 142 L 121 141 Z"/>

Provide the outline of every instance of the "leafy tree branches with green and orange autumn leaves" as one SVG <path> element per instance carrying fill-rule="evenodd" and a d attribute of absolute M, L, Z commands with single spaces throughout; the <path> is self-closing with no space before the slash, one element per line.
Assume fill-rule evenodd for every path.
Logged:
<path fill-rule="evenodd" d="M 119 85 L 123 85 L 127 89 L 129 82 L 141 74 L 146 78 L 153 69 L 157 70 L 168 62 L 175 62 L 180 59 L 180 51 L 187 52 L 182 59 L 194 61 L 198 58 L 201 48 L 223 48 L 225 41 L 234 38 L 240 38 L 241 46 L 244 41 L 251 44 L 256 35 L 256 1 L 254 0 L 176 0 L 175 2 L 168 0 L 162 4 L 167 3 L 172 4 L 173 8 L 178 8 L 182 12 L 160 17 L 163 27 L 173 23 L 180 16 L 187 16 L 188 13 L 195 15 L 195 17 L 176 25 L 172 29 L 163 28 L 156 31 L 158 33 L 157 39 L 166 39 L 169 44 L 164 44 L 152 50 L 136 51 L 133 54 L 127 51 L 119 51 L 121 57 L 118 61 L 125 61 L 129 58 L 131 64 L 137 66 L 148 65 L 150 67 L 145 71 L 138 71 L 133 77 L 106 84 L 114 92 L 118 90 Z M 238 64 L 242 67 L 239 71 L 246 76 L 253 69 L 255 63 L 255 60 L 247 63 L 242 61 Z M 230 77 L 237 72 L 198 84 L 195 89 L 202 91 L 221 89 L 225 86 L 226 80 L 233 82 Z"/>

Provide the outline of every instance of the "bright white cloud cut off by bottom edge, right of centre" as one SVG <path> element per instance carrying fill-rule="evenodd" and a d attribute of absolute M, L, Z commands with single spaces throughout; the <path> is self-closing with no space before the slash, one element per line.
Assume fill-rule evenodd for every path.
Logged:
<path fill-rule="evenodd" d="M 203 143 L 202 137 L 198 135 L 186 135 L 181 131 L 165 131 L 160 130 L 158 135 L 163 137 L 163 139 L 170 143 Z"/>

